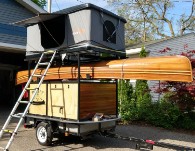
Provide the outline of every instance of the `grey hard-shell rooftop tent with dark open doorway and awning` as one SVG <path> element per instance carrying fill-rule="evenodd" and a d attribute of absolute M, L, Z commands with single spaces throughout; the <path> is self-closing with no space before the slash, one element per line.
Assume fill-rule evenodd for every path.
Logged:
<path fill-rule="evenodd" d="M 21 21 L 27 26 L 27 56 L 47 49 L 124 53 L 126 20 L 92 4 L 70 7 Z"/>

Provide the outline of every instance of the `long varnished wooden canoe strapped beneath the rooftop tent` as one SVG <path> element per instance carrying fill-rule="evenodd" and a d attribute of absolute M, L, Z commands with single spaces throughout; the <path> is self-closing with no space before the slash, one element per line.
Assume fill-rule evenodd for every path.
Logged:
<path fill-rule="evenodd" d="M 37 70 L 36 74 L 44 70 Z M 91 79 L 145 79 L 165 81 L 192 81 L 192 68 L 188 58 L 184 56 L 147 57 L 123 59 L 86 64 L 80 67 L 81 79 L 86 75 Z M 50 68 L 45 80 L 76 79 L 78 67 Z M 20 71 L 16 76 L 16 84 L 28 80 L 28 71 Z"/>

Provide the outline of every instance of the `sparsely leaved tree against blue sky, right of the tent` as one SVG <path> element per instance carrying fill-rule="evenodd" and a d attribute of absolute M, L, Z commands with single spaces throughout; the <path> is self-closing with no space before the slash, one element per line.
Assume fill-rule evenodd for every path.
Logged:
<path fill-rule="evenodd" d="M 194 0 L 190 15 L 177 17 L 170 14 L 176 4 L 169 0 L 108 0 L 108 3 L 127 19 L 126 44 L 175 37 L 195 29 Z"/>

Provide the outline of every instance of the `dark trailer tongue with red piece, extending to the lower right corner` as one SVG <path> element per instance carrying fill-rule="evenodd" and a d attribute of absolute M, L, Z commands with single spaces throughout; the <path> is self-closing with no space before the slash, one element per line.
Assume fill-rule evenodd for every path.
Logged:
<path fill-rule="evenodd" d="M 192 148 L 192 147 L 180 146 L 180 145 L 163 143 L 163 142 L 156 142 L 153 140 L 147 140 L 147 139 L 145 140 L 145 139 L 136 138 L 136 137 L 121 136 L 121 135 L 110 133 L 110 132 L 100 132 L 100 135 L 103 137 L 110 137 L 110 138 L 116 138 L 116 139 L 135 142 L 136 143 L 135 148 L 137 150 L 140 150 L 143 148 L 153 150 L 153 146 L 158 146 L 158 147 L 163 147 L 163 148 L 175 149 L 177 151 L 195 151 L 195 148 Z"/>

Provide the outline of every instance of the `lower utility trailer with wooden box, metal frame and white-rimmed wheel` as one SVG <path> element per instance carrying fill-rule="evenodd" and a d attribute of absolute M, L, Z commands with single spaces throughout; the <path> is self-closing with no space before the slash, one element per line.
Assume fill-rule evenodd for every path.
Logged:
<path fill-rule="evenodd" d="M 30 88 L 36 87 L 33 83 Z M 32 97 L 33 90 L 30 90 Z M 53 136 L 88 135 L 113 131 L 117 116 L 117 82 L 47 81 L 39 88 L 25 117 L 36 128 L 37 140 L 49 145 Z"/>

